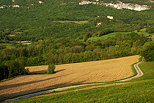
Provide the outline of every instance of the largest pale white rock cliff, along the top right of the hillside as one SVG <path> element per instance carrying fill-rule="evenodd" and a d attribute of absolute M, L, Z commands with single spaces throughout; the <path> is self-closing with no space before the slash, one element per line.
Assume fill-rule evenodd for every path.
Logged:
<path fill-rule="evenodd" d="M 135 10 L 135 11 L 142 11 L 142 10 L 150 9 L 150 7 L 147 5 L 123 3 L 121 1 L 118 1 L 117 3 L 104 3 L 102 1 L 99 2 L 99 0 L 96 0 L 96 1 L 84 0 L 79 3 L 79 5 L 87 5 L 87 4 L 105 5 L 105 6 L 110 6 L 116 9 L 130 9 L 130 10 Z"/>

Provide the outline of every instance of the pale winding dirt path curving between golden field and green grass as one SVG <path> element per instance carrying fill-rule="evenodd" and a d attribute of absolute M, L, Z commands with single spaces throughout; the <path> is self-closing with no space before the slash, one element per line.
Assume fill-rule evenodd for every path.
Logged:
<path fill-rule="evenodd" d="M 116 82 L 126 82 L 126 81 L 130 81 L 132 79 L 139 78 L 139 77 L 143 76 L 143 72 L 142 72 L 142 70 L 138 66 L 142 62 L 143 61 L 134 64 L 134 68 L 135 68 L 135 70 L 137 72 L 137 74 L 135 76 L 132 76 L 132 77 L 129 77 L 129 78 L 126 78 L 126 79 L 123 79 L 123 80 L 118 80 Z M 45 94 L 45 93 L 51 93 L 51 92 L 55 92 L 55 91 L 62 91 L 62 90 L 67 90 L 67 89 L 71 89 L 71 88 L 82 87 L 82 86 L 89 86 L 89 85 L 97 85 L 97 84 L 104 84 L 104 83 L 91 83 L 91 84 L 82 84 L 82 85 L 61 87 L 61 88 L 56 88 L 56 89 L 52 89 L 52 90 L 41 91 L 41 92 L 32 93 L 32 94 L 28 94 L 28 95 L 24 95 L 24 96 L 19 96 L 19 97 L 16 97 L 16 98 L 7 99 L 5 101 L 12 101 L 12 100 L 18 100 L 18 99 L 26 99 L 26 98 L 30 98 L 30 97 L 34 97 L 34 96 L 41 97 L 41 96 L 48 96 L 48 95 L 64 94 L 64 93 L 81 91 L 81 90 L 87 90 L 87 89 L 93 89 L 93 88 L 99 88 L 99 87 L 122 85 L 124 83 L 113 83 L 113 84 L 107 84 L 107 85 L 92 86 L 92 87 L 87 87 L 87 88 L 82 88 L 82 89 L 70 90 L 70 91 L 65 91 L 65 92 L 60 92 L 60 93 Z M 45 95 L 41 95 L 41 94 L 45 94 Z M 38 95 L 41 95 L 41 96 L 38 96 Z"/>

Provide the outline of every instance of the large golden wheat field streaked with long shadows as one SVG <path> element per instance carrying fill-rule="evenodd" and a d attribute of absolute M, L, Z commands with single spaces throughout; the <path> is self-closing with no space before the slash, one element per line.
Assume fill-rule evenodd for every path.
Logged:
<path fill-rule="evenodd" d="M 108 82 L 132 76 L 131 65 L 139 56 L 118 59 L 56 65 L 55 74 L 33 74 L 19 76 L 0 82 L 0 97 L 23 95 L 58 85 L 72 83 Z M 27 67 L 30 72 L 46 72 L 48 66 Z"/>

